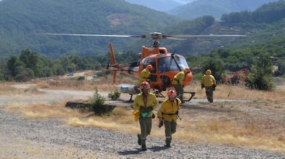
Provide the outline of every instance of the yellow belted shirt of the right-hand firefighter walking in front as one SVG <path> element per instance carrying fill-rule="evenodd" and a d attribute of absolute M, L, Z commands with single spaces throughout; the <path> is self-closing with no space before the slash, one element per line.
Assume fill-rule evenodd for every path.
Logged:
<path fill-rule="evenodd" d="M 169 99 L 166 99 L 165 101 L 162 102 L 160 108 L 158 109 L 158 117 L 163 117 L 165 121 L 174 120 L 176 122 L 177 120 L 176 112 L 179 110 L 180 106 L 181 106 L 181 101 L 179 98 L 176 98 L 173 101 L 173 104 L 170 102 Z"/>

